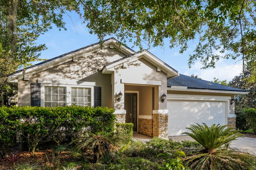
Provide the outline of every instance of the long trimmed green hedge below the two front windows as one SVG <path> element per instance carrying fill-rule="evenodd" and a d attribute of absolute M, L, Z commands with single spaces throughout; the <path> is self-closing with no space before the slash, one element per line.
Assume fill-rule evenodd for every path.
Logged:
<path fill-rule="evenodd" d="M 16 133 L 21 132 L 29 149 L 42 140 L 75 139 L 88 132 L 113 132 L 115 110 L 107 107 L 0 107 L 0 152 L 5 154 L 15 145 Z"/>

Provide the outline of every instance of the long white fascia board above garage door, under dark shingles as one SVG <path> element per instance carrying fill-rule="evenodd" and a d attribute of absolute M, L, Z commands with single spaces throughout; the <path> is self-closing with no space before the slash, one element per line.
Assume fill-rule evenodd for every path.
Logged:
<path fill-rule="evenodd" d="M 223 93 L 223 94 L 248 94 L 249 92 L 238 92 L 238 91 L 224 91 L 224 90 L 199 90 L 199 89 L 172 89 L 167 87 L 167 91 L 186 91 L 186 92 L 207 92 L 207 93 Z"/>

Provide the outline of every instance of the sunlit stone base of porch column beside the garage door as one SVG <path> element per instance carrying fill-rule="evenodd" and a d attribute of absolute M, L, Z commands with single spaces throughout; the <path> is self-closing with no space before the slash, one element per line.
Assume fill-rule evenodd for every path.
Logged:
<path fill-rule="evenodd" d="M 153 114 L 153 137 L 168 139 L 168 114 Z"/>

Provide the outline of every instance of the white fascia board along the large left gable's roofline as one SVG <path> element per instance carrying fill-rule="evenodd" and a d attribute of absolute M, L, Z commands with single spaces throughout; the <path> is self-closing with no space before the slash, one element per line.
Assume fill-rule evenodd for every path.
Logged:
<path fill-rule="evenodd" d="M 104 47 L 104 48 L 106 48 L 106 45 L 108 45 L 109 43 L 117 43 L 117 42 L 116 42 L 115 40 L 113 40 L 113 39 L 108 40 L 108 41 L 104 42 L 104 44 L 105 44 L 105 47 Z M 99 45 L 99 44 L 96 44 L 96 45 L 93 45 L 93 46 L 91 46 L 91 47 L 87 47 L 86 49 L 82 49 L 82 50 L 80 50 L 80 51 L 76 51 L 76 52 L 73 52 L 73 53 L 71 53 L 71 54 L 67 54 L 67 55 L 62 56 L 62 57 L 60 57 L 60 58 L 56 58 L 55 60 L 48 61 L 48 62 L 43 63 L 43 64 L 41 64 L 41 65 L 37 65 L 37 66 L 35 66 L 35 67 L 33 67 L 33 68 L 27 69 L 27 70 L 26 70 L 26 74 L 31 73 L 31 72 L 34 72 L 34 71 L 37 71 L 37 70 L 39 70 L 39 69 L 46 68 L 46 67 L 47 67 L 47 69 L 48 69 L 49 66 L 52 66 L 52 65 L 54 65 L 55 63 L 59 63 L 59 62 L 61 62 L 61 61 L 67 60 L 67 59 L 72 60 L 72 57 L 74 57 L 74 56 L 80 57 L 80 56 L 78 56 L 78 55 L 80 55 L 81 53 L 89 52 L 89 51 L 92 51 L 93 49 L 97 49 L 97 48 L 99 48 L 99 47 L 100 47 L 100 45 Z M 118 46 L 118 47 L 119 47 L 119 46 Z M 124 51 L 126 51 L 126 52 L 128 52 L 128 53 L 130 53 L 130 54 L 134 53 L 133 51 L 131 51 L 130 49 L 128 49 L 127 47 L 125 47 L 125 46 L 123 46 L 123 45 L 121 45 L 120 47 L 121 47 Z M 59 64 L 60 64 L 60 63 L 59 63 Z M 49 67 L 49 68 L 50 68 L 50 67 Z M 30 74 L 30 75 L 32 75 L 32 74 Z M 23 76 L 23 73 L 22 73 L 22 72 L 18 72 L 18 73 L 16 73 L 16 74 L 13 74 L 13 75 L 9 76 L 9 80 L 13 80 L 13 79 L 15 79 L 15 78 L 19 78 L 20 76 Z M 19 79 L 20 79 L 20 78 L 19 78 Z"/>

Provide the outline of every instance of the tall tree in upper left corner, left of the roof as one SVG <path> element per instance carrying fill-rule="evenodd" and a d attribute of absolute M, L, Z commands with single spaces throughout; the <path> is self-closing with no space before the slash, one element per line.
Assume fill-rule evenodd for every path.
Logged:
<path fill-rule="evenodd" d="M 72 3 L 69 0 L 0 1 L 0 105 L 8 93 L 8 75 L 32 61 L 41 60 L 40 51 L 46 47 L 36 45 L 35 40 L 48 31 L 52 23 L 65 29 L 62 17 L 65 10 L 76 8 Z"/>

